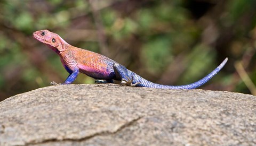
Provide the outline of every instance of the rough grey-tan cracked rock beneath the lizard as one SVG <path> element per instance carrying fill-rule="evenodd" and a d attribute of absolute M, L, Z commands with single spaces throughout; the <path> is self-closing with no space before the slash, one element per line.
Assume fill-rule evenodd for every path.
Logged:
<path fill-rule="evenodd" d="M 74 84 L 0 102 L 0 145 L 255 145 L 256 97 Z"/>

